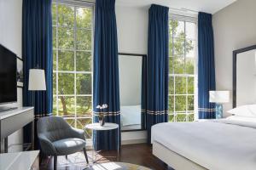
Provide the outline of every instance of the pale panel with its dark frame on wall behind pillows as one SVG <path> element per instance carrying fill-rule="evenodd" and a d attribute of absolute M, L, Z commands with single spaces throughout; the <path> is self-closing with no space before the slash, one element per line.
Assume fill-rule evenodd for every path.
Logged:
<path fill-rule="evenodd" d="M 256 47 L 234 51 L 233 107 L 256 104 Z"/>

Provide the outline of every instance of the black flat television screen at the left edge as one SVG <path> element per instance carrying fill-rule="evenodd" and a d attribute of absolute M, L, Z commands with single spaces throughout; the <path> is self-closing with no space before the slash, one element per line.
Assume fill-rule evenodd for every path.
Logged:
<path fill-rule="evenodd" d="M 17 101 L 16 55 L 0 44 L 0 103 Z"/>

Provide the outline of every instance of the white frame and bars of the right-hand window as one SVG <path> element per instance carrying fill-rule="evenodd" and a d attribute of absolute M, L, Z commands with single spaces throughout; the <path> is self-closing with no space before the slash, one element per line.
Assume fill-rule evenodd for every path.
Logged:
<path fill-rule="evenodd" d="M 188 87 L 186 87 L 186 93 L 185 94 L 175 94 L 175 85 L 174 85 L 174 94 L 168 94 L 168 96 L 189 96 L 193 95 L 194 96 L 194 111 L 188 111 L 188 98 L 186 98 L 186 111 L 175 111 L 175 97 L 173 98 L 173 110 L 174 113 L 169 112 L 169 116 L 173 115 L 173 122 L 177 122 L 177 114 L 185 114 L 186 115 L 186 122 L 189 121 L 189 115 L 194 113 L 194 121 L 198 120 L 198 19 L 197 19 L 197 14 L 173 14 L 172 12 L 169 14 L 169 21 L 171 20 L 179 20 L 179 21 L 184 21 L 184 22 L 192 22 L 195 23 L 195 67 L 194 67 L 194 75 L 191 74 L 172 74 L 169 73 L 169 77 L 173 77 L 173 83 L 175 84 L 175 77 L 186 77 L 186 85 L 188 84 L 188 77 L 194 77 L 194 94 L 188 94 Z M 184 31 L 186 32 L 186 24 L 184 24 Z M 173 32 L 172 32 L 173 34 Z M 172 37 L 172 42 L 173 42 L 173 35 Z M 186 34 L 185 34 L 185 40 L 186 40 Z M 185 43 L 184 43 L 184 48 L 185 48 Z M 172 50 L 173 51 L 173 50 Z M 173 54 L 169 54 L 169 57 Z M 184 57 L 186 59 L 186 57 Z M 184 61 L 186 62 L 186 60 Z M 173 66 L 174 67 L 174 66 Z M 170 71 L 169 71 L 170 72 Z"/>

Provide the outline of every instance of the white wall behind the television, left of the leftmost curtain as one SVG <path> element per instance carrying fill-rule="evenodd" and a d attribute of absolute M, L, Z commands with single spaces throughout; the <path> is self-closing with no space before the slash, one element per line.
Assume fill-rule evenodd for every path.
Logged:
<path fill-rule="evenodd" d="M 19 57 L 21 55 L 22 0 L 0 0 L 0 43 Z M 22 90 L 18 88 L 18 102 L 22 106 Z M 13 144 L 21 144 L 22 130 L 9 136 L 9 151 L 20 150 Z"/>

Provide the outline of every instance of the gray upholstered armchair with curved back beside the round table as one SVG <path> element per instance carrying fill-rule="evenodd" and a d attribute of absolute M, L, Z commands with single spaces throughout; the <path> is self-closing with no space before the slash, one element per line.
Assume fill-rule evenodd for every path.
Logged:
<path fill-rule="evenodd" d="M 83 130 L 70 127 L 57 116 L 40 118 L 37 124 L 41 150 L 47 156 L 54 156 L 54 169 L 57 167 L 57 156 L 67 156 L 79 150 L 84 150 L 86 162 L 89 163 Z"/>

